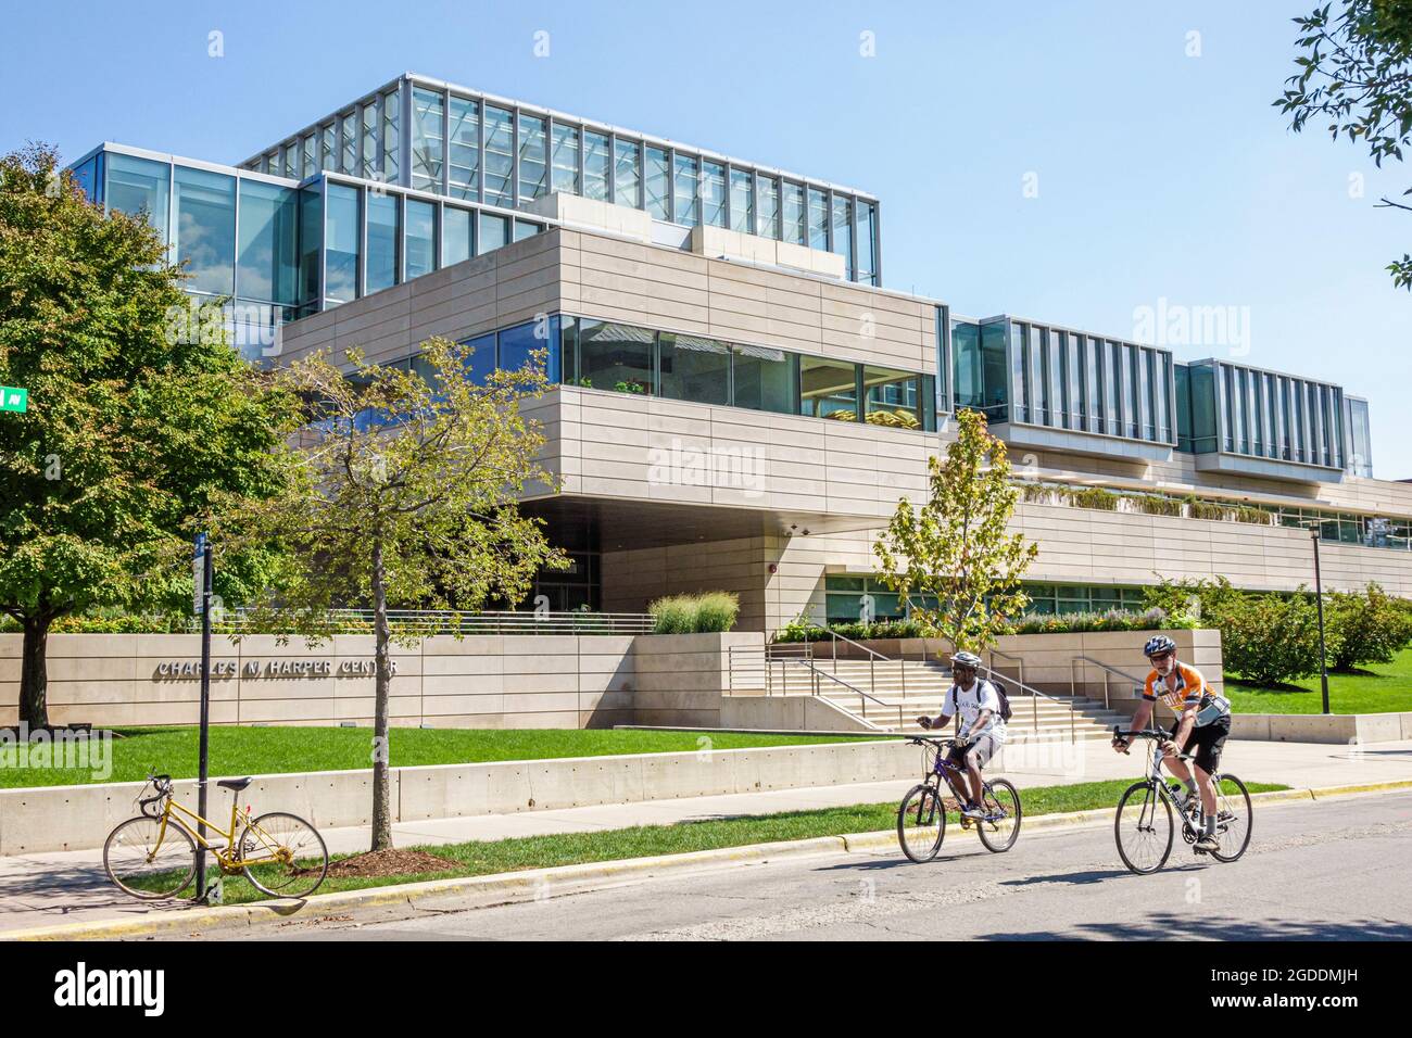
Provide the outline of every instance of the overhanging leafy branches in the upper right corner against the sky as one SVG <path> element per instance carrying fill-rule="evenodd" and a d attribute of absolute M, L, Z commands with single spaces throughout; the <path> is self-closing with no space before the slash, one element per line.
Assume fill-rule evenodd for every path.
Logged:
<path fill-rule="evenodd" d="M 1372 161 L 1402 161 L 1412 136 L 1412 3 L 1343 0 L 1329 3 L 1299 27 L 1299 72 L 1274 102 L 1299 133 L 1309 120 L 1329 120 L 1329 134 L 1365 144 Z M 1402 192 L 1412 195 L 1412 188 Z M 1380 206 L 1412 212 L 1412 205 L 1382 198 Z M 1412 254 L 1388 264 L 1392 281 L 1412 290 Z"/>

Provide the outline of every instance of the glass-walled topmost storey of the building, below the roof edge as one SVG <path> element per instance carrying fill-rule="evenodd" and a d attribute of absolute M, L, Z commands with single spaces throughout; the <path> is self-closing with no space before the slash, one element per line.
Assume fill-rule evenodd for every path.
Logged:
<path fill-rule="evenodd" d="M 833 251 L 849 280 L 878 282 L 875 202 L 479 96 L 409 89 L 405 175 L 395 145 L 398 89 L 267 151 L 253 168 L 298 179 L 325 169 L 510 209 L 554 191 L 582 195 L 668 223 Z"/>

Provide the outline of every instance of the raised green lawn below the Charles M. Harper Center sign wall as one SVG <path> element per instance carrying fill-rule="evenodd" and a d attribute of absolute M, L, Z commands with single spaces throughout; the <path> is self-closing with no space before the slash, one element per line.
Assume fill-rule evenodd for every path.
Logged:
<path fill-rule="evenodd" d="M 196 777 L 199 732 L 195 726 L 117 729 L 113 774 L 95 780 L 89 768 L 14 767 L 21 747 L 0 744 L 0 788 L 143 781 L 148 771 L 172 778 Z M 373 732 L 323 727 L 212 726 L 212 775 L 271 775 L 289 771 L 346 771 L 371 765 Z M 709 739 L 709 743 L 699 740 Z M 877 736 L 768 736 L 730 732 L 630 732 L 611 729 L 404 729 L 388 736 L 393 767 L 474 764 L 549 757 L 613 757 L 628 753 L 681 753 L 709 746 L 740 750 L 758 746 L 837 743 Z M 32 758 L 27 758 L 28 760 Z"/>

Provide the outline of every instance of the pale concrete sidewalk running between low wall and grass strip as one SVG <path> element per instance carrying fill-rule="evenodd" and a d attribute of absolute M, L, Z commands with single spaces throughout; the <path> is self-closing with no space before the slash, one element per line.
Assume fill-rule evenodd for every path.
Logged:
<path fill-rule="evenodd" d="M 1017 761 L 1012 761 L 1000 768 L 1000 772 L 1015 777 L 1024 792 L 1025 787 L 1137 778 L 1145 767 L 1137 750 L 1123 757 L 1113 753 L 1106 741 L 1083 744 L 1082 756 L 1076 756 L 1069 764 L 1072 767 L 1017 767 Z M 1231 741 L 1226 746 L 1223 764 L 1247 781 L 1282 782 L 1299 788 L 1408 780 L 1412 778 L 1412 741 L 1375 743 L 1360 750 L 1337 744 Z M 918 768 L 921 770 L 921 757 Z M 393 839 L 397 846 L 408 847 L 419 843 L 669 825 L 733 815 L 770 815 L 899 801 L 912 784 L 911 780 L 860 782 L 407 822 L 393 826 Z M 367 847 L 369 829 L 326 829 L 323 837 L 330 853 L 353 853 Z M 0 857 L 0 932 L 83 919 L 136 918 L 154 911 L 174 912 L 182 908 L 169 904 L 148 905 L 119 893 L 103 876 L 103 856 L 99 850 Z"/>

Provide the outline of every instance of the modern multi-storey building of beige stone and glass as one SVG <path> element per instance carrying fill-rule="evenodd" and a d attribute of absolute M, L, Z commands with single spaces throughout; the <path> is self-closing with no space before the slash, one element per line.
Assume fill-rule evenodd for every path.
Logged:
<path fill-rule="evenodd" d="M 481 378 L 542 350 L 555 487 L 524 508 L 573 558 L 537 582 L 552 609 L 898 614 L 871 544 L 960 408 L 1027 484 L 1035 612 L 1132 609 L 1155 573 L 1293 590 L 1310 528 L 1326 586 L 1412 596 L 1412 484 L 1372 479 L 1367 400 L 892 292 L 856 188 L 411 73 L 236 165 L 103 144 L 72 169 L 258 363 L 421 370 L 438 333 Z"/>

